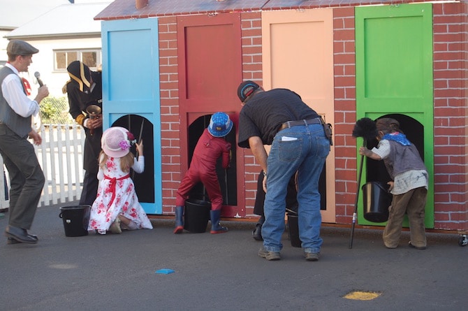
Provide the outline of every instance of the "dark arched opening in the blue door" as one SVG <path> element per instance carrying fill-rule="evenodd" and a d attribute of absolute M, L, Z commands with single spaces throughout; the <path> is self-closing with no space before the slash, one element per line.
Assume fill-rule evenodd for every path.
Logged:
<path fill-rule="evenodd" d="M 153 124 L 145 117 L 139 115 L 124 115 L 117 119 L 112 126 L 122 126 L 135 136 L 137 142 L 143 142 L 143 155 L 145 156 L 145 171 L 137 174 L 130 171 L 135 184 L 136 195 L 140 203 L 154 203 L 154 136 Z M 136 146 L 131 147 L 136 155 Z"/>

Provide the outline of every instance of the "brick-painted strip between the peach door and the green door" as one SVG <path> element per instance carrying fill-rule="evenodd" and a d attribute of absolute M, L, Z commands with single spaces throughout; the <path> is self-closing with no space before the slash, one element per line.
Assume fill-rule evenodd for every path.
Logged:
<path fill-rule="evenodd" d="M 354 8 L 333 10 L 336 222 L 351 223 L 357 189 Z"/>

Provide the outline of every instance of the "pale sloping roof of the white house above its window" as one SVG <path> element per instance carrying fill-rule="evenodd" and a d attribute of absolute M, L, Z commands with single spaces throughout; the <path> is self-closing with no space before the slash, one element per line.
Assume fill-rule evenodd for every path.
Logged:
<path fill-rule="evenodd" d="M 63 4 L 11 31 L 6 38 L 37 38 L 101 34 L 101 22 L 94 16 L 108 2 Z"/>

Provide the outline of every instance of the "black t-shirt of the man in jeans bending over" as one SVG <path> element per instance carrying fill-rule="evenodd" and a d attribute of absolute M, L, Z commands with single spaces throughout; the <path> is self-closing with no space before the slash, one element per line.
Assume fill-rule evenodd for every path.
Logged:
<path fill-rule="evenodd" d="M 259 92 L 240 110 L 237 145 L 249 148 L 249 138 L 252 136 L 260 137 L 263 145 L 271 145 L 279 126 L 284 122 L 315 117 L 319 115 L 289 89 Z"/>

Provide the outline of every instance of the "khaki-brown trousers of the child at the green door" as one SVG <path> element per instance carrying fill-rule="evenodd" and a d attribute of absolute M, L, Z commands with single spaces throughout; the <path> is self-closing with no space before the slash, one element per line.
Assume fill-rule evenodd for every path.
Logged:
<path fill-rule="evenodd" d="M 388 208 L 388 222 L 383 230 L 383 244 L 395 248 L 400 243 L 405 212 L 408 214 L 411 244 L 417 247 L 426 246 L 424 208 L 427 189 L 420 187 L 404 194 L 393 196 L 392 205 Z"/>

